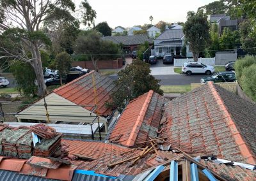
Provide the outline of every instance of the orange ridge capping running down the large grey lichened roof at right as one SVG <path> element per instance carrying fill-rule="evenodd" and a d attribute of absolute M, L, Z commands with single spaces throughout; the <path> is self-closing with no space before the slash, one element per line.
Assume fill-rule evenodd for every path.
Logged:
<path fill-rule="evenodd" d="M 236 123 L 234 122 L 232 115 L 228 112 L 227 106 L 225 106 L 225 103 L 223 99 L 221 98 L 219 92 L 216 89 L 216 85 L 214 85 L 213 82 L 207 83 L 211 89 L 212 96 L 216 100 L 216 103 L 218 106 L 220 106 L 221 110 L 225 112 L 225 115 L 227 115 L 227 125 L 230 128 L 231 134 L 236 142 L 236 144 L 239 147 L 239 150 L 241 152 L 241 155 L 244 157 L 244 159 L 247 160 L 250 164 L 256 164 L 256 157 L 253 154 L 252 150 L 248 146 L 248 143 L 244 140 L 241 133 L 239 133 L 239 129 L 237 129 Z M 239 127 L 238 127 L 239 128 Z"/>

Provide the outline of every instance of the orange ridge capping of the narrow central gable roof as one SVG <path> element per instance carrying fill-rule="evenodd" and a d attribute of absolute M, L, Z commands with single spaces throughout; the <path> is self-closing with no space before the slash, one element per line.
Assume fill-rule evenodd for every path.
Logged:
<path fill-rule="evenodd" d="M 128 140 L 127 140 L 127 146 L 128 147 L 132 147 L 134 145 L 135 141 L 136 141 L 136 138 L 137 138 L 138 133 L 140 131 L 141 124 L 143 122 L 143 119 L 145 117 L 145 114 L 146 114 L 147 109 L 148 109 L 148 105 L 150 104 L 150 101 L 151 101 L 151 98 L 152 98 L 153 94 L 154 94 L 154 91 L 152 91 L 152 90 L 148 91 L 148 93 L 147 93 L 147 98 L 145 99 L 145 101 L 143 103 L 143 106 L 140 110 L 139 116 L 138 116 L 138 118 L 137 118 L 137 120 L 136 120 L 136 122 L 135 122 L 135 124 L 132 128 L 131 134 L 130 134 Z M 135 139 L 132 139 L 134 137 L 135 137 Z"/>

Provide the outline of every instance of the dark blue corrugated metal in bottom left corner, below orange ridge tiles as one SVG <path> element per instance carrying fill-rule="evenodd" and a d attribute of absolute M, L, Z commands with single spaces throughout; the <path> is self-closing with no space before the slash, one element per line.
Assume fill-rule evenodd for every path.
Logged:
<path fill-rule="evenodd" d="M 31 175 L 22 175 L 14 171 L 0 170 L 0 181 L 60 181 L 49 178 L 35 177 Z"/>

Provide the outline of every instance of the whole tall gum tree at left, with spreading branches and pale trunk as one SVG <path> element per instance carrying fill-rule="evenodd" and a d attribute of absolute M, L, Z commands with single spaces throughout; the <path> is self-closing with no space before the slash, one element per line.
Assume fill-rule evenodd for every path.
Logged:
<path fill-rule="evenodd" d="M 90 25 L 96 17 L 96 12 L 86 0 L 81 4 L 83 23 Z M 42 24 L 52 17 L 72 16 L 74 11 L 75 4 L 72 0 L 0 1 L 0 39 L 2 41 L 0 51 L 4 54 L 1 57 L 9 57 L 31 64 L 36 73 L 38 96 L 44 96 L 46 92 L 39 50 L 40 47 L 51 44 L 48 36 L 41 31 Z M 12 39 L 11 43 L 18 46 L 10 45 L 6 40 L 9 37 Z"/>

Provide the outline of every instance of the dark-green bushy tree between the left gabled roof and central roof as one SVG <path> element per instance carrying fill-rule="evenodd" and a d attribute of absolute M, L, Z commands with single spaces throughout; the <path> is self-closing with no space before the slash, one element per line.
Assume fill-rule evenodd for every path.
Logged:
<path fill-rule="evenodd" d="M 158 94 L 163 95 L 160 89 L 159 82 L 150 75 L 150 65 L 134 60 L 132 63 L 118 72 L 118 80 L 115 80 L 115 85 L 118 91 L 111 94 L 112 101 L 107 103 L 107 106 L 117 107 L 118 112 L 122 112 L 125 105 L 134 98 L 153 90 Z"/>

